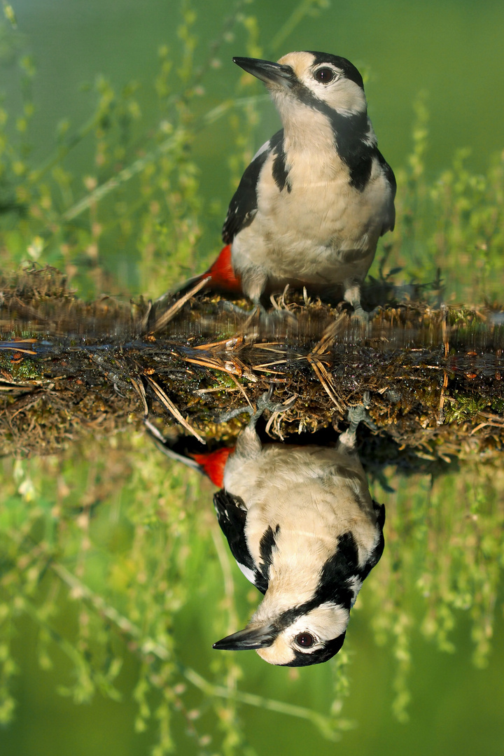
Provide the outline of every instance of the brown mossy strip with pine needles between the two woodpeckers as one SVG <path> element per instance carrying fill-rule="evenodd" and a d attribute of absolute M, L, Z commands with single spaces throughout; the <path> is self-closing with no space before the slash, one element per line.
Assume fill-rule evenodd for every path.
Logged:
<path fill-rule="evenodd" d="M 376 430 L 363 431 L 364 463 L 418 469 L 502 449 L 495 308 L 388 302 L 361 324 L 345 305 L 298 295 L 273 300 L 267 318 L 201 294 L 154 307 L 82 302 L 53 268 L 3 280 L 0 296 L 2 454 L 54 453 L 138 428 L 147 414 L 165 434 L 212 446 L 246 422 L 220 423 L 221 414 L 254 404 L 271 383 L 277 401 L 296 397 L 267 418 L 273 437 L 341 430 L 347 407 L 370 392 Z"/>

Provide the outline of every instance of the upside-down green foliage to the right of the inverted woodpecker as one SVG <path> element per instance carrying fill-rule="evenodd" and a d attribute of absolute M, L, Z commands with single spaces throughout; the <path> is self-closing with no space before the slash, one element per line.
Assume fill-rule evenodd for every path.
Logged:
<path fill-rule="evenodd" d="M 419 627 L 444 652 L 468 618 L 473 662 L 489 662 L 493 622 L 502 596 L 504 476 L 475 462 L 431 482 L 399 479 L 386 494 L 386 550 L 368 578 L 377 643 L 396 662 L 394 711 L 407 720 L 410 640 Z M 379 572 L 379 574 L 378 574 Z M 502 607 L 500 609 L 502 611 Z"/>

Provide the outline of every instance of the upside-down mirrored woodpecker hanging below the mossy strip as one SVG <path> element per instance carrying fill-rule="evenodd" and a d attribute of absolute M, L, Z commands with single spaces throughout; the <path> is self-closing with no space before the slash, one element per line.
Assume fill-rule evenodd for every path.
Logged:
<path fill-rule="evenodd" d="M 355 451 L 362 405 L 351 408 L 334 447 L 262 445 L 256 423 L 264 409 L 281 407 L 270 393 L 233 450 L 193 455 L 223 485 L 214 497 L 219 525 L 240 570 L 264 593 L 246 628 L 214 648 L 314 665 L 343 645 L 357 593 L 382 556 L 385 507 L 370 497 Z"/>

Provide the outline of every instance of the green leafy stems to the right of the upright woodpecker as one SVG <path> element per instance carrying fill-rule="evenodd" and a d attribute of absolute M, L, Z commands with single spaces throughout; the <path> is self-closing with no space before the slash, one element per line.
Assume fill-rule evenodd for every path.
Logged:
<path fill-rule="evenodd" d="M 406 283 L 429 283 L 441 276 L 447 302 L 501 302 L 504 151 L 493 156 L 483 175 L 467 168 L 470 150 L 458 150 L 451 168 L 432 181 L 425 175 L 425 94 L 417 99 L 415 113 L 413 151 L 407 166 L 396 171 L 397 224 L 385 237 L 388 265 L 402 268 Z"/>

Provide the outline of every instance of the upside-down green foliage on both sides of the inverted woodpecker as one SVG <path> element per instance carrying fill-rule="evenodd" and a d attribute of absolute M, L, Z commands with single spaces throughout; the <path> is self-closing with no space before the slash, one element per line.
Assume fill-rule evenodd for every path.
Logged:
<path fill-rule="evenodd" d="M 56 457 L 4 460 L 2 721 L 15 710 L 11 640 L 28 617 L 37 628 L 41 668 L 51 674 L 58 655 L 68 658 L 70 672 L 60 692 L 76 703 L 97 693 L 119 700 L 125 658 L 138 659 L 135 729 L 141 733 L 156 723 L 154 753 L 175 748 L 174 717 L 182 717 L 205 752 L 211 713 L 221 730 L 221 751 L 243 752 L 243 705 L 301 717 L 330 739 L 352 727 L 342 718 L 351 688 L 347 649 L 332 665 L 332 692 L 330 680 L 323 683 L 326 714 L 246 692 L 246 660 L 212 655 L 212 640 L 240 627 L 250 612 L 249 588 L 241 576 L 235 585 L 233 560 L 218 531 L 212 488 L 196 473 L 153 454 L 143 436 L 131 444 L 116 437 L 85 445 L 79 463 Z M 358 618 L 365 607 L 377 643 L 394 662 L 394 712 L 400 720 L 407 719 L 410 701 L 414 628 L 452 652 L 456 626 L 467 617 L 473 661 L 479 667 L 488 663 L 504 567 L 502 494 L 504 477 L 475 465 L 430 486 L 420 476 L 400 479 L 396 493 L 386 496 L 387 547 L 354 612 Z M 190 666 L 181 662 L 187 625 L 190 645 L 204 649 L 191 654 Z M 301 680 L 290 679 L 287 698 L 289 689 L 301 693 Z"/>

